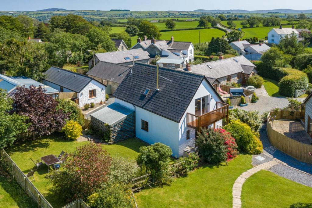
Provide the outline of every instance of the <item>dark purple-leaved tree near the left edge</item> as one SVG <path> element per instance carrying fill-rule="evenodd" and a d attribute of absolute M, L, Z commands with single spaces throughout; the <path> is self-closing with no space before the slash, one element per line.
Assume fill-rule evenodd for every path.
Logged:
<path fill-rule="evenodd" d="M 61 131 L 68 115 L 62 110 L 56 110 L 57 101 L 46 95 L 46 89 L 41 86 L 17 87 L 13 94 L 13 111 L 19 115 L 28 116 L 27 123 L 31 123 L 28 131 L 38 135 L 50 134 L 50 128 Z"/>

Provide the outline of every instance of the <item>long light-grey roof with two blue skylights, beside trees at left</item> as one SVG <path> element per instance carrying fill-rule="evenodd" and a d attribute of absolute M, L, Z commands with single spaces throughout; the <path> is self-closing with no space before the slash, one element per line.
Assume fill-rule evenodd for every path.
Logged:
<path fill-rule="evenodd" d="M 139 56 L 138 59 L 134 59 L 134 61 L 140 61 L 149 59 L 149 53 L 144 51 L 142 48 L 132 49 L 127 51 L 114 51 L 114 52 L 107 52 L 107 53 L 95 53 L 95 56 L 103 62 L 110 62 L 110 63 L 126 63 L 126 62 L 133 62 L 134 56 Z M 130 60 L 125 60 L 125 57 L 129 57 Z"/>

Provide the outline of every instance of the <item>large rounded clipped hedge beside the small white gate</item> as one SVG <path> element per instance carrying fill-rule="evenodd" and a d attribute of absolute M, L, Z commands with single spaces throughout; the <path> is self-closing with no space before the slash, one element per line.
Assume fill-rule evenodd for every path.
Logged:
<path fill-rule="evenodd" d="M 306 89 L 309 83 L 306 73 L 292 68 L 280 68 L 280 94 L 286 97 L 294 97 L 295 90 Z M 285 75 L 285 76 L 283 76 Z"/>

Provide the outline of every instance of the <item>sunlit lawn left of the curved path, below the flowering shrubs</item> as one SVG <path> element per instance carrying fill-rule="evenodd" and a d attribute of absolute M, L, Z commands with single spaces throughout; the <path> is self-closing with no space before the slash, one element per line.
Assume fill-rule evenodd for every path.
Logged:
<path fill-rule="evenodd" d="M 204 165 L 170 186 L 136 193 L 136 201 L 138 207 L 232 207 L 234 181 L 251 167 L 250 155 L 239 155 L 228 166 Z"/>

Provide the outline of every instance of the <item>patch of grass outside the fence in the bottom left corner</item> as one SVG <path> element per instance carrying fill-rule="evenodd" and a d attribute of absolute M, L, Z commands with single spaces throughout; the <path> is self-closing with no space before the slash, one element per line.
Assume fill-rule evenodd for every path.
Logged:
<path fill-rule="evenodd" d="M 0 167 L 0 207 L 38 207 Z"/>

